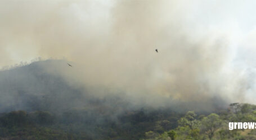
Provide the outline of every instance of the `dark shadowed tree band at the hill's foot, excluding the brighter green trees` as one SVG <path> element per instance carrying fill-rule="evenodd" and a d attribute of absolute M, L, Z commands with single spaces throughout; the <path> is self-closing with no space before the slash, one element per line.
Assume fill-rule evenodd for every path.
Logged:
<path fill-rule="evenodd" d="M 176 127 L 178 118 L 170 110 L 134 110 L 115 117 L 95 109 L 12 111 L 0 115 L 0 139 L 139 139 L 151 129 L 161 133 Z"/>

